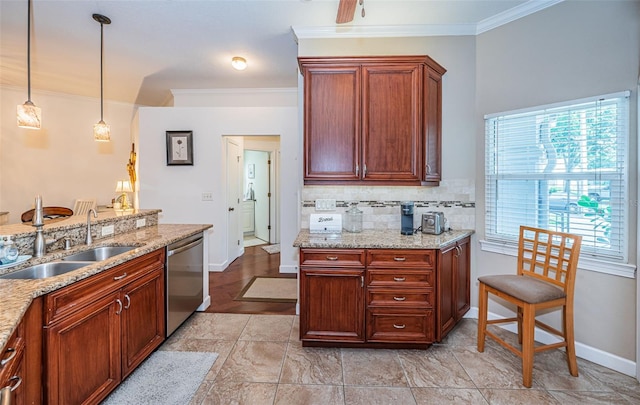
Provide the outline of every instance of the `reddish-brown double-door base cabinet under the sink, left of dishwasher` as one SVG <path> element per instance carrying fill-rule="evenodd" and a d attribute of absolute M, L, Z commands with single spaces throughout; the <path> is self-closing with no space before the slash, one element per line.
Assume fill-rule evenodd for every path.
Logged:
<path fill-rule="evenodd" d="M 164 249 L 45 296 L 48 403 L 98 403 L 164 340 Z"/>

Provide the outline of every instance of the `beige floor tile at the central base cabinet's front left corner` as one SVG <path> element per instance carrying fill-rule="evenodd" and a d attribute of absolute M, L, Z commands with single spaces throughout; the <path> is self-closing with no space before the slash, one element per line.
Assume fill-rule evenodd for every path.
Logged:
<path fill-rule="evenodd" d="M 280 383 L 343 385 L 340 349 L 289 342 Z"/>

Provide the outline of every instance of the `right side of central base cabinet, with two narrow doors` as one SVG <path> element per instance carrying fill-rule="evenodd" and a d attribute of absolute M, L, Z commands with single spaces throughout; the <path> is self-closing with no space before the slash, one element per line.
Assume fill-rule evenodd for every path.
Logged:
<path fill-rule="evenodd" d="M 438 254 L 438 341 L 444 339 L 470 308 L 469 238 Z"/>

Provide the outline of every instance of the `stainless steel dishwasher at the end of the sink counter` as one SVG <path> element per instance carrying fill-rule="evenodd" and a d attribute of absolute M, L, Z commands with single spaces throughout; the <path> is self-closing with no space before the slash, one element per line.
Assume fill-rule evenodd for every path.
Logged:
<path fill-rule="evenodd" d="M 167 246 L 165 296 L 167 337 L 202 304 L 203 234 Z"/>

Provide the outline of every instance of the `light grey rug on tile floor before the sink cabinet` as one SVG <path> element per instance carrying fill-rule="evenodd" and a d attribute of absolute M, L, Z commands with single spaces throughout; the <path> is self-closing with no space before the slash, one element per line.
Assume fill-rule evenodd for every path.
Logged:
<path fill-rule="evenodd" d="M 188 404 L 217 353 L 156 351 L 102 405 Z"/>

